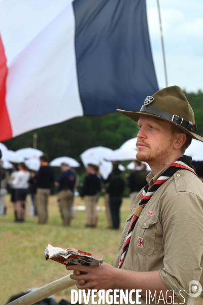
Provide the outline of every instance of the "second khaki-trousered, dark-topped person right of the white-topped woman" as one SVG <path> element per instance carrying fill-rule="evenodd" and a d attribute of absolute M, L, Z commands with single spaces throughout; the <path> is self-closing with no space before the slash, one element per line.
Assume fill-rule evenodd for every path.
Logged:
<path fill-rule="evenodd" d="M 76 175 L 68 164 L 61 164 L 61 173 L 58 176 L 55 185 L 58 187 L 58 206 L 61 212 L 63 226 L 70 226 Z"/>

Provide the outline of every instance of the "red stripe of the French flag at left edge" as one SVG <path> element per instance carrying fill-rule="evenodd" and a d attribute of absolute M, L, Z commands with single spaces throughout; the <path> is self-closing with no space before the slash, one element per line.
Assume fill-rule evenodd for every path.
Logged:
<path fill-rule="evenodd" d="M 6 105 L 7 74 L 6 56 L 0 36 L 0 141 L 12 138 L 11 122 Z"/>

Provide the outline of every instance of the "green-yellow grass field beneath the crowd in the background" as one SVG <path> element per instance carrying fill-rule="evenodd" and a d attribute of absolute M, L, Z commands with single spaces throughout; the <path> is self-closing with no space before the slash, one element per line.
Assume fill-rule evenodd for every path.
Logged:
<path fill-rule="evenodd" d="M 83 205 L 76 198 L 76 205 Z M 104 205 L 104 198 L 98 205 Z M 41 287 L 68 274 L 64 265 L 45 261 L 44 250 L 48 243 L 54 247 L 74 247 L 104 256 L 105 262 L 113 264 L 119 246 L 120 234 L 129 214 L 129 200 L 124 199 L 121 212 L 121 228 L 107 229 L 105 211 L 98 211 L 98 227 L 85 228 L 85 211 L 77 211 L 71 227 L 62 227 L 56 197 L 49 200 L 49 220 L 38 225 L 37 218 L 26 216 L 25 223 L 14 223 L 13 204 L 6 198 L 7 215 L 0 216 L 0 305 L 15 293 L 32 287 Z M 74 287 L 76 289 L 76 287 Z M 55 295 L 56 300 L 71 300 L 71 289 Z M 203 304 L 202 298 L 195 305 Z"/>

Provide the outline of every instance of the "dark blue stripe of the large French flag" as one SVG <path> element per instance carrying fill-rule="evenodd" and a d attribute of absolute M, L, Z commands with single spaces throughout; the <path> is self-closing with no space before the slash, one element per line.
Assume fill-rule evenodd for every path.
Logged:
<path fill-rule="evenodd" d="M 145 0 L 75 0 L 73 8 L 84 114 L 140 110 L 158 91 Z"/>

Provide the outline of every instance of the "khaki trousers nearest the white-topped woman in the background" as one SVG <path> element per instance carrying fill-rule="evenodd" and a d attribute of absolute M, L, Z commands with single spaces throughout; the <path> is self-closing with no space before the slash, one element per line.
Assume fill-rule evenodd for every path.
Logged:
<path fill-rule="evenodd" d="M 46 224 L 48 218 L 48 197 L 50 195 L 50 189 L 37 189 L 36 193 L 36 207 L 38 211 L 39 224 Z"/>

